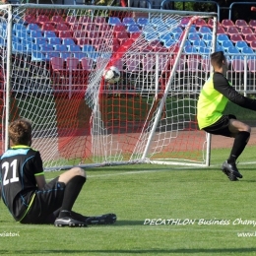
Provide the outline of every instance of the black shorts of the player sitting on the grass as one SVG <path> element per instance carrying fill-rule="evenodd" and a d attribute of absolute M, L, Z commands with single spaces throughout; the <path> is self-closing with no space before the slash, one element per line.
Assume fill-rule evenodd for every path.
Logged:
<path fill-rule="evenodd" d="M 63 201 L 65 183 L 58 182 L 58 177 L 47 183 L 42 190 L 35 192 L 32 207 L 21 221 L 22 224 L 54 223 L 53 212 L 58 210 Z"/>

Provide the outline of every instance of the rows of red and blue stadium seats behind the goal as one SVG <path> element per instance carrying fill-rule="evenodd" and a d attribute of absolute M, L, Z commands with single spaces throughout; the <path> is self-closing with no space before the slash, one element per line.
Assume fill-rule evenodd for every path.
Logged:
<path fill-rule="evenodd" d="M 124 18 L 120 20 L 118 17 L 109 17 L 108 20 L 105 20 L 104 17 L 95 17 L 92 21 L 92 18 L 88 16 L 82 16 L 77 20 L 73 16 L 63 19 L 62 16 L 54 15 L 49 19 L 46 15 L 35 18 L 27 14 L 24 16 L 24 20 L 28 23 L 27 26 L 14 24 L 13 50 L 20 53 L 32 52 L 32 61 L 35 62 L 48 61 L 58 83 L 60 83 L 60 78 L 59 75 L 57 76 L 57 72 L 67 75 L 64 71 L 67 68 L 72 70 L 71 73 L 74 77 L 83 77 L 82 81 L 74 78 L 73 82 L 77 85 L 87 83 L 90 71 L 95 67 L 96 59 L 109 54 L 108 52 L 105 52 L 105 55 L 99 53 L 103 49 L 100 44 L 103 44 L 102 40 L 107 37 L 104 34 L 111 31 L 109 28 L 114 28 L 111 46 L 113 51 L 116 51 L 129 38 L 136 39 L 142 34 L 145 40 L 151 41 L 150 46 L 145 49 L 145 53 L 167 52 L 177 45 L 176 42 L 183 32 L 183 27 L 190 21 L 189 18 L 184 18 L 179 27 L 171 33 L 166 33 L 165 31 L 175 23 L 175 20 L 162 21 L 160 18 L 152 20 L 149 18 Z M 195 26 L 191 27 L 188 40 L 185 42 L 184 53 L 200 56 L 201 65 L 199 65 L 199 58 L 195 58 L 191 63 L 181 59 L 177 70 L 179 76 L 182 76 L 187 65 L 193 72 L 197 69 L 210 72 L 209 59 L 205 58 L 209 52 L 205 45 L 212 43 L 213 37 L 209 33 L 212 28 L 213 20 L 206 23 L 203 19 L 197 20 Z M 0 27 L 1 32 L 4 30 Z M 256 72 L 255 59 L 252 57 L 255 56 L 256 51 L 255 30 L 256 20 L 246 23 L 244 20 L 233 22 L 225 19 L 218 23 L 216 50 L 225 51 L 233 72 L 243 72 L 246 66 L 248 66 L 249 72 Z M 2 40 L 0 41 L 1 45 L 5 45 Z M 243 63 L 245 55 L 248 65 L 242 66 L 241 63 Z M 132 63 L 128 63 L 128 69 L 138 68 L 137 61 L 136 59 Z M 146 63 L 145 65 L 150 70 L 151 60 L 148 59 Z M 87 71 L 85 72 L 87 75 L 82 75 L 83 70 Z"/>

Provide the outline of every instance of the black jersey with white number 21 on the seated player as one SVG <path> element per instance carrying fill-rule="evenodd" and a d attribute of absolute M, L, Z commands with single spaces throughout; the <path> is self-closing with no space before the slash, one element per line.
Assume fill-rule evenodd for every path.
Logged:
<path fill-rule="evenodd" d="M 15 146 L 3 154 L 0 166 L 3 201 L 19 221 L 37 190 L 35 175 L 43 174 L 40 154 L 28 146 Z"/>

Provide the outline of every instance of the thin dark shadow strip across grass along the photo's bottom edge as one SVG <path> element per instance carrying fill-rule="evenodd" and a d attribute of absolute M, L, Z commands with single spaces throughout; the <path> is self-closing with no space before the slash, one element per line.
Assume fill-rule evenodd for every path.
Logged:
<path fill-rule="evenodd" d="M 88 253 L 88 254 L 93 254 L 93 255 L 96 255 L 96 253 L 98 254 L 102 254 L 102 253 L 107 253 L 107 254 L 111 254 L 111 255 L 114 255 L 114 254 L 135 254 L 135 253 L 140 253 L 140 254 L 147 254 L 147 255 L 157 255 L 157 254 L 172 254 L 172 253 L 177 253 L 177 254 L 199 254 L 199 253 L 211 253 L 211 254 L 217 254 L 217 255 L 223 255 L 225 253 L 235 253 L 235 254 L 238 254 L 238 253 L 241 253 L 241 255 L 244 255 L 246 253 L 251 253 L 251 252 L 256 252 L 256 248 L 212 248 L 212 249 L 127 249 L 127 250 L 124 250 L 124 249 L 116 249 L 116 250 L 104 250 L 104 249 L 101 249 L 101 250 L 40 250 L 38 251 L 38 253 L 40 255 L 42 254 L 64 254 L 64 255 L 68 255 L 68 254 L 73 254 L 73 253 L 76 253 L 76 254 L 80 254 L 81 255 L 85 255 L 85 253 Z M 1 255 L 6 255 L 6 254 L 16 254 L 16 255 L 36 255 L 37 252 L 35 250 L 0 250 L 0 254 Z"/>

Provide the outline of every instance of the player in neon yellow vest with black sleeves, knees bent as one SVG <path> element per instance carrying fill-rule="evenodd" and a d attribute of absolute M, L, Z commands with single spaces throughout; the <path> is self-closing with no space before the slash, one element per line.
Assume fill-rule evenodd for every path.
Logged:
<path fill-rule="evenodd" d="M 242 96 L 236 92 L 224 77 L 227 71 L 227 62 L 223 51 L 211 55 L 211 64 L 214 73 L 201 90 L 197 103 L 197 120 L 201 130 L 208 133 L 234 138 L 230 156 L 224 161 L 222 169 L 231 181 L 242 178 L 235 161 L 243 152 L 249 141 L 251 127 L 238 121 L 234 115 L 224 114 L 228 100 L 233 103 L 256 110 L 256 100 Z"/>

